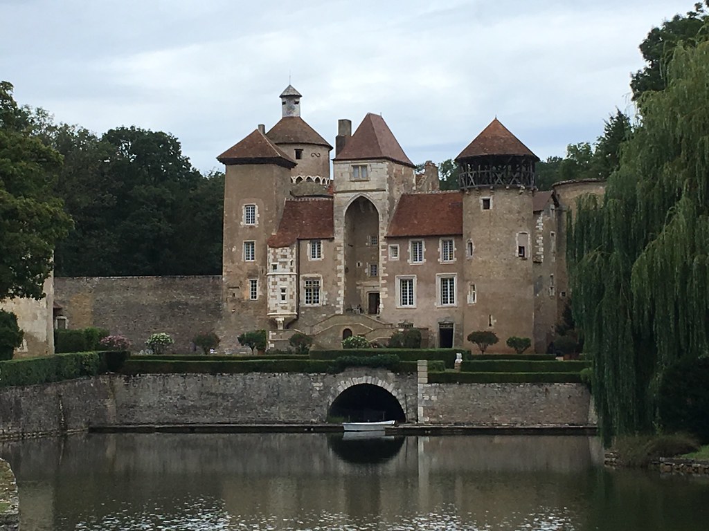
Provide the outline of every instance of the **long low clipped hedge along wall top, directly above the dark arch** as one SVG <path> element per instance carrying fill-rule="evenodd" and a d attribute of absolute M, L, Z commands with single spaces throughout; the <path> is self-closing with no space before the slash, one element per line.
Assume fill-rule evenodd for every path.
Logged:
<path fill-rule="evenodd" d="M 128 359 L 121 372 L 125 375 L 138 374 L 245 374 L 249 372 L 301 372 L 330 373 L 342 372 L 347 367 L 386 368 L 393 372 L 412 374 L 417 370 L 415 361 L 401 361 L 393 358 L 340 358 L 338 360 L 147 360 L 140 356 Z M 442 371 L 445 365 L 440 360 L 428 362 L 429 370 Z"/>

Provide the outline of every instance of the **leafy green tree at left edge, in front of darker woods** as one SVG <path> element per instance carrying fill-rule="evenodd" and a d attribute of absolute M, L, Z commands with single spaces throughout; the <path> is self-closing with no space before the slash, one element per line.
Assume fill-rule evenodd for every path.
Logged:
<path fill-rule="evenodd" d="M 72 222 L 53 196 L 62 156 L 31 134 L 12 91 L 0 82 L 0 300 L 40 299 L 55 245 Z"/>

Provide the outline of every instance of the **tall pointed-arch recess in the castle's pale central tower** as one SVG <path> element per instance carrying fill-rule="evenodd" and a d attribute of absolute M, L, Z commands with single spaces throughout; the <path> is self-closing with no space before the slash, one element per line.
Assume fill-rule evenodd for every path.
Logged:
<path fill-rule="evenodd" d="M 360 196 L 345 212 L 345 311 L 360 313 L 376 297 L 379 313 L 379 212 Z"/>

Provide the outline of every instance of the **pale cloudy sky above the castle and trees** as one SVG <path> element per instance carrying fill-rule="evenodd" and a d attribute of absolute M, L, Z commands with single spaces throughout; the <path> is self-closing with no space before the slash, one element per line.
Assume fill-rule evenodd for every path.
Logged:
<path fill-rule="evenodd" d="M 455 158 L 498 118 L 541 159 L 593 142 L 654 26 L 693 0 L 0 0 L 0 80 L 99 135 L 169 132 L 203 172 L 281 118 L 335 145 L 384 117 L 415 163 Z M 334 156 L 334 152 L 333 152 Z"/>

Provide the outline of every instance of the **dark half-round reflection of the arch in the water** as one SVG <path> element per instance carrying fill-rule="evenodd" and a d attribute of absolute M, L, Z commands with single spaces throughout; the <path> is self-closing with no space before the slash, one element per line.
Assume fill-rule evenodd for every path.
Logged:
<path fill-rule="evenodd" d="M 352 464 L 381 464 L 395 457 L 405 437 L 389 437 L 384 431 L 345 432 L 328 435 L 328 447 L 337 457 Z"/>

